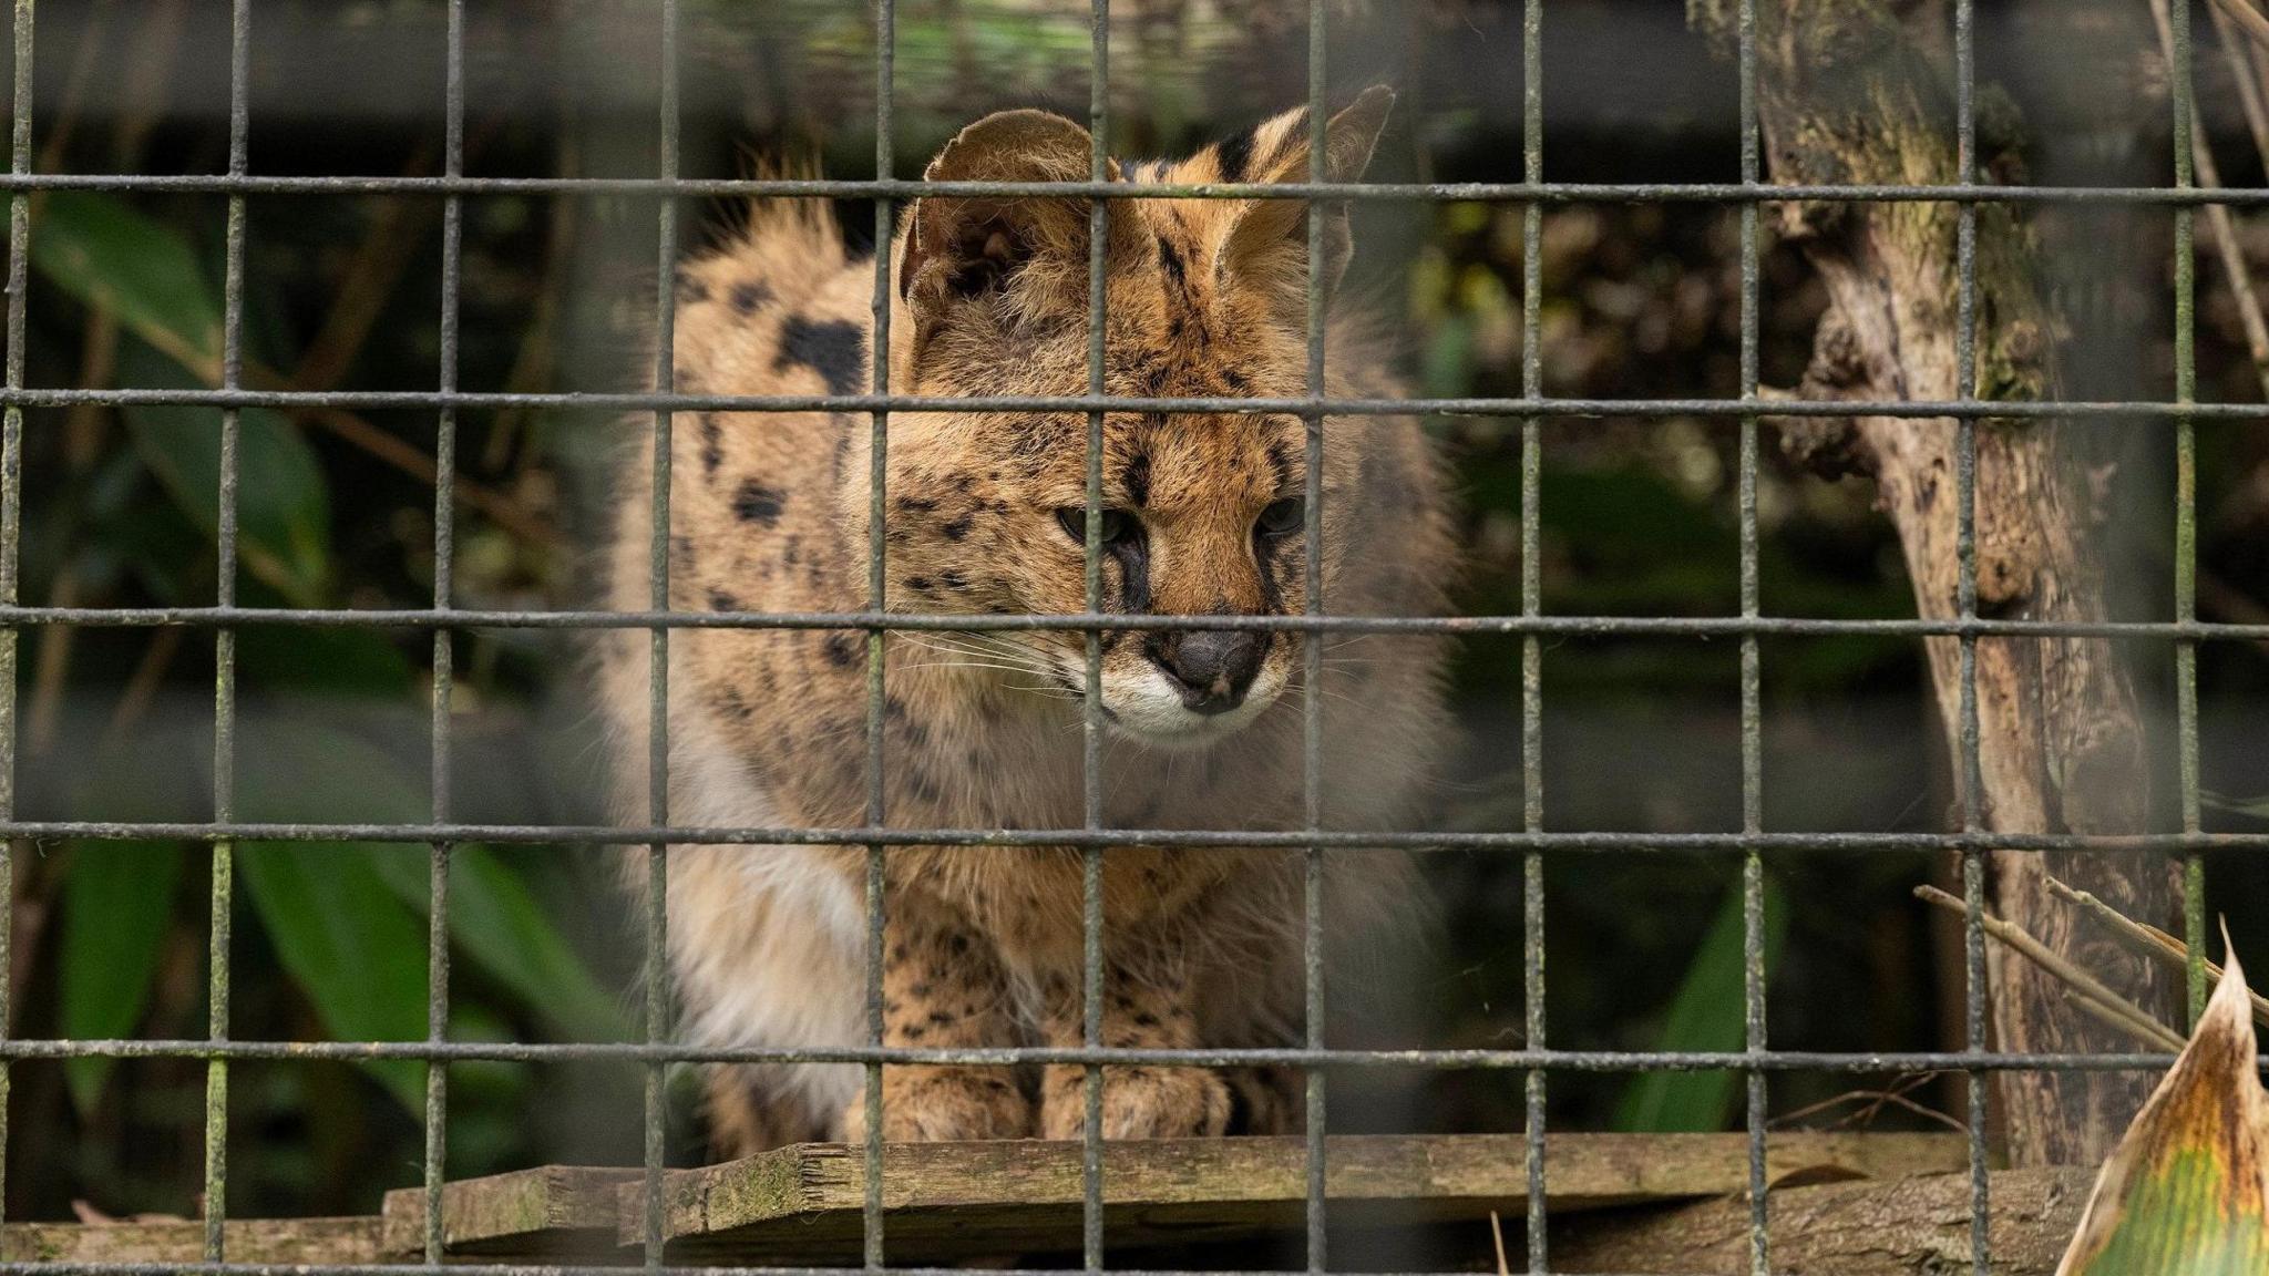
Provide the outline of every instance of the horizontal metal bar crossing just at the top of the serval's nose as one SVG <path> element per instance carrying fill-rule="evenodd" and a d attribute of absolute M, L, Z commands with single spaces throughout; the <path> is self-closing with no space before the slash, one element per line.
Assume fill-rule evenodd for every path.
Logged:
<path fill-rule="evenodd" d="M 277 629 L 896 629 L 930 631 L 1255 631 L 1255 633 L 1543 633 L 1561 638 L 2156 638 L 2264 643 L 2269 624 L 2205 620 L 1920 620 L 1808 615 L 955 615 L 896 611 L 461 611 L 286 606 L 0 606 L 0 629 L 277 627 Z"/>

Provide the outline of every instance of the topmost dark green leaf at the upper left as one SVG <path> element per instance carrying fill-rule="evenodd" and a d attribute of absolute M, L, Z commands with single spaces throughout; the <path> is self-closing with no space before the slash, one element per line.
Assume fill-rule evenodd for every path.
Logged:
<path fill-rule="evenodd" d="M 188 236 L 98 191 L 48 191 L 32 227 L 32 266 L 134 336 L 213 384 L 220 304 Z"/>

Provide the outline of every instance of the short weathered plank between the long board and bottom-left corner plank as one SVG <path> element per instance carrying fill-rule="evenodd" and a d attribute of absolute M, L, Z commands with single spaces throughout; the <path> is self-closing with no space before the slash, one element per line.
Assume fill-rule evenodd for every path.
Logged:
<path fill-rule="evenodd" d="M 442 1244 L 461 1256 L 545 1258 L 610 1251 L 615 1246 L 615 1190 L 638 1169 L 545 1165 L 488 1178 L 445 1183 L 440 1190 Z M 424 1253 L 424 1187 L 386 1194 L 386 1249 Z"/>

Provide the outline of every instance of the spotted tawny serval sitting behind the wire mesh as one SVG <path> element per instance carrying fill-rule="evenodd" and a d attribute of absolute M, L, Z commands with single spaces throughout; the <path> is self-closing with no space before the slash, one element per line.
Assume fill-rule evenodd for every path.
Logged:
<path fill-rule="evenodd" d="M 1325 173 L 1357 179 L 1391 95 L 1330 120 Z M 1280 116 L 1180 163 L 1110 166 L 1114 182 L 1305 182 L 1309 118 Z M 930 179 L 1087 179 L 1089 136 L 1039 111 L 964 129 Z M 1105 243 L 1103 388 L 1144 397 L 1307 391 L 1307 207 L 1296 200 L 1114 200 Z M 1323 284 L 1348 261 L 1325 216 Z M 889 250 L 889 386 L 921 395 L 1087 391 L 1085 200 L 923 198 Z M 681 272 L 678 384 L 733 395 L 862 393 L 874 266 L 824 204 L 753 209 Z M 1327 329 L 1327 391 L 1389 395 L 1380 345 Z M 1407 418 L 1323 425 L 1325 606 L 1418 615 L 1452 568 L 1443 475 Z M 647 608 L 651 440 L 626 450 L 610 590 Z M 844 413 L 685 413 L 672 436 L 669 604 L 842 613 L 869 606 L 871 422 Z M 1087 608 L 1085 413 L 889 418 L 883 606 L 1014 615 Z M 1307 599 L 1298 500 L 1307 427 L 1280 415 L 1110 413 L 1103 504 L 1107 613 L 1289 615 Z M 1284 502 L 1293 502 L 1287 506 Z M 1287 513 L 1291 511 L 1291 513 Z M 1198 715 L 1182 633 L 1100 636 L 1103 824 L 1298 829 L 1302 643 L 1264 636 L 1234 711 Z M 1216 643 L 1218 645 L 1218 643 Z M 1443 740 L 1429 636 L 1323 640 L 1323 822 L 1411 815 Z M 883 820 L 901 829 L 1076 829 L 1085 636 L 889 633 Z M 608 640 L 601 692 L 624 815 L 647 808 L 649 638 Z M 867 822 L 869 638 L 812 629 L 681 629 L 669 640 L 674 824 Z M 1178 665 L 1182 661 L 1182 665 Z M 1223 674 L 1225 677 L 1225 674 Z M 1173 690 L 1182 686 L 1184 690 Z M 1225 683 L 1221 683 L 1225 686 Z M 1221 686 L 1214 690 L 1218 692 Z M 1169 688 L 1169 690 L 1159 690 Z M 1182 699 L 1175 699 L 1180 695 Z M 710 1047 L 849 1047 L 864 1024 L 864 854 L 855 847 L 676 847 L 669 963 L 681 1031 Z M 642 876 L 642 874 L 633 874 Z M 1330 863 L 1325 931 L 1377 949 L 1411 915 L 1400 856 Z M 885 874 L 883 1033 L 901 1047 L 1078 1044 L 1082 858 L 1064 847 L 896 847 Z M 1262 1047 L 1300 1040 L 1302 861 L 1296 851 L 1123 847 L 1105 856 L 1105 1044 Z M 1078 1069 L 885 1069 L 889 1138 L 1071 1135 Z M 855 1133 L 851 1065 L 726 1067 L 710 1078 L 722 1151 Z M 1114 1138 L 1296 1124 L 1266 1069 L 1105 1069 Z"/>

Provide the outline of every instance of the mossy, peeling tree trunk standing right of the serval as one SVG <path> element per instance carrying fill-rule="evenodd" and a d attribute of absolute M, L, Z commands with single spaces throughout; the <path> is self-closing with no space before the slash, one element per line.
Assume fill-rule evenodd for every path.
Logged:
<path fill-rule="evenodd" d="M 1783 184 L 1951 184 L 1956 116 L 1942 0 L 1758 0 L 1758 114 L 1770 177 Z M 1693 27 L 1734 52 L 1736 0 L 1688 0 Z M 1985 134 L 2006 109 L 1990 111 Z M 1981 157 L 1990 148 L 1981 143 Z M 1981 177 L 1990 179 L 1990 177 Z M 1956 236 L 1960 213 L 1929 202 L 1788 202 L 1768 218 L 1802 245 L 1829 293 L 1799 397 L 1958 400 Z M 1981 204 L 1976 227 L 1976 393 L 2040 400 L 2056 386 L 2047 311 L 2019 209 Z M 1924 618 L 1958 615 L 1956 422 L 1783 420 L 1788 452 L 1824 472 L 1865 475 L 1899 531 Z M 2072 422 L 1976 427 L 1976 606 L 1988 618 L 2101 620 L 2106 581 L 2090 543 L 2103 459 Z M 1960 643 L 1929 640 L 1949 754 L 1963 758 Z M 1976 643 L 1979 811 L 2006 833 L 2135 833 L 2151 820 L 2151 756 L 2135 686 L 2099 638 Z M 1956 783 L 1963 783 L 1956 765 Z M 2167 1017 L 2171 981 L 2076 929 L 2044 876 L 2092 890 L 2131 917 L 2169 922 L 2165 856 L 1994 854 L 1990 906 L 2051 949 Z M 1994 947 L 1994 1047 L 2119 1051 L 2135 1042 L 2072 1010 L 2053 979 Z M 2146 1094 L 2117 1074 L 1994 1074 L 1997 1131 L 2015 1165 L 2087 1162 L 2115 1147 Z"/>

